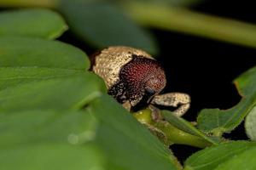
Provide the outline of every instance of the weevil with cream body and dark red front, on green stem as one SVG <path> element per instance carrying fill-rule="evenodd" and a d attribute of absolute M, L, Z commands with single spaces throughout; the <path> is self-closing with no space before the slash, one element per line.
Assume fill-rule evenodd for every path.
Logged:
<path fill-rule="evenodd" d="M 102 77 L 108 94 L 130 111 L 147 105 L 177 107 L 174 114 L 183 116 L 188 111 L 188 94 L 160 94 L 166 87 L 162 66 L 143 50 L 113 46 L 90 56 L 90 71 Z"/>

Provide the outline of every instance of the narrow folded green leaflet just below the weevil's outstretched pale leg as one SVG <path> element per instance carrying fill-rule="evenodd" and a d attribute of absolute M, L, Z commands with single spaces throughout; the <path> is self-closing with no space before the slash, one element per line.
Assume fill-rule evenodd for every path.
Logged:
<path fill-rule="evenodd" d="M 173 126 L 177 127 L 180 130 L 183 130 L 186 133 L 201 137 L 202 139 L 207 140 L 211 144 L 218 144 L 219 139 L 213 139 L 208 137 L 206 134 L 202 133 L 200 130 L 192 126 L 190 122 L 187 122 L 182 117 L 175 116 L 171 111 L 161 111 L 161 114 L 165 117 L 166 121 L 170 122 Z"/>

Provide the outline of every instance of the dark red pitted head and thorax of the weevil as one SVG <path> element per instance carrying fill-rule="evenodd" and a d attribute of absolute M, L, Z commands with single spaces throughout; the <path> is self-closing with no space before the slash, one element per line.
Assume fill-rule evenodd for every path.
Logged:
<path fill-rule="evenodd" d="M 159 94 L 166 86 L 166 75 L 160 64 L 154 59 L 132 56 L 133 59 L 123 66 L 119 73 L 121 82 L 125 83 L 126 95 L 136 99 Z"/>

